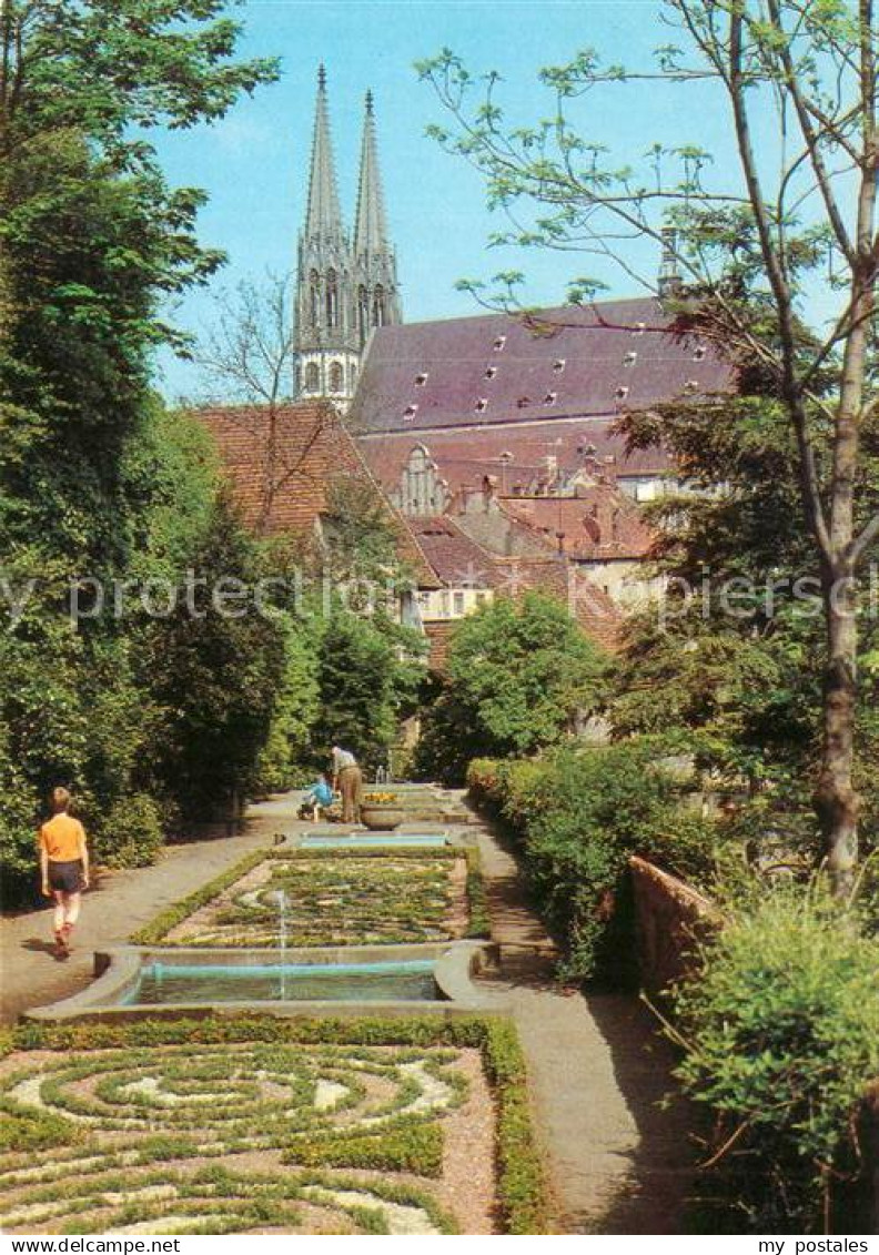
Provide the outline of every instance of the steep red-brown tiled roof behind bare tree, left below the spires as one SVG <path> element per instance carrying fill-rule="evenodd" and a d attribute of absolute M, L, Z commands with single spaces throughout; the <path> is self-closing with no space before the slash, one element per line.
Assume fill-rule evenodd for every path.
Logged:
<path fill-rule="evenodd" d="M 310 537 L 329 507 L 334 484 L 368 483 L 383 502 L 397 552 L 421 587 L 438 587 L 403 517 L 384 497 L 335 410 L 321 403 L 227 405 L 193 410 L 213 435 L 247 527 L 262 536 Z"/>

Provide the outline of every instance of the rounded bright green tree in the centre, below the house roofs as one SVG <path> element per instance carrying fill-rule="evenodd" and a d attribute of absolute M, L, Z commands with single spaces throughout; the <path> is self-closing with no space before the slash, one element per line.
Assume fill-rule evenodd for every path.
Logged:
<path fill-rule="evenodd" d="M 530 754 L 561 740 L 604 694 L 607 660 L 565 606 L 500 597 L 455 628 L 441 718 L 470 729 L 485 756 Z"/>

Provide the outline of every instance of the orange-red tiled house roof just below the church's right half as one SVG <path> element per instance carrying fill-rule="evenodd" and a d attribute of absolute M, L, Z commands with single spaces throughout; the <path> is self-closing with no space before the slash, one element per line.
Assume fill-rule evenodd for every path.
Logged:
<path fill-rule="evenodd" d="M 501 508 L 575 558 L 637 560 L 653 546 L 638 507 L 609 484 L 581 488 L 576 497 L 505 497 Z"/>

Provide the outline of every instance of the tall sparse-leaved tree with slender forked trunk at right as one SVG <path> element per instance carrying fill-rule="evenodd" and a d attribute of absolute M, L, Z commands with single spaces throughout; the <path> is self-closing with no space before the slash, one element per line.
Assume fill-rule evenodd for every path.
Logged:
<path fill-rule="evenodd" d="M 815 794 L 831 875 L 845 892 L 860 806 L 853 784 L 858 579 L 879 538 L 879 513 L 858 517 L 861 438 L 878 404 L 874 6 L 667 0 L 662 15 L 678 41 L 657 51 L 655 67 L 605 64 L 585 49 L 545 69 L 553 108 L 532 127 L 506 123 L 500 75 L 477 79 L 448 50 L 419 70 L 457 119 L 452 132 L 434 127 L 434 136 L 483 171 L 491 205 L 512 218 L 514 228 L 496 240 L 598 252 L 639 280 L 629 247 L 662 242 L 682 275 L 678 330 L 713 339 L 771 380 L 795 446 L 799 508 L 822 599 Z M 571 122 L 578 99 L 609 110 L 601 95 L 639 80 L 652 92 L 692 93 L 698 84 L 722 105 L 730 131 L 722 166 L 679 136 L 649 147 L 639 167 L 615 161 Z M 777 161 L 761 159 L 767 147 Z M 678 230 L 676 241 L 668 227 Z M 828 259 L 836 312 L 805 336 Z M 507 294 L 519 277 L 499 276 Z M 600 286 L 586 276 L 571 295 L 586 300 Z"/>

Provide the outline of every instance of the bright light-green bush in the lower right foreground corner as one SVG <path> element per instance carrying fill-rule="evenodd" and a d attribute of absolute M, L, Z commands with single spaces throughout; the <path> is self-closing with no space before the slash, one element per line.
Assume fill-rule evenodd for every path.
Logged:
<path fill-rule="evenodd" d="M 752 1232 L 820 1231 L 835 1181 L 858 1173 L 855 1116 L 879 1073 L 879 944 L 787 887 L 742 907 L 702 958 L 676 995 L 679 1076 L 717 1113 L 720 1192 Z"/>

